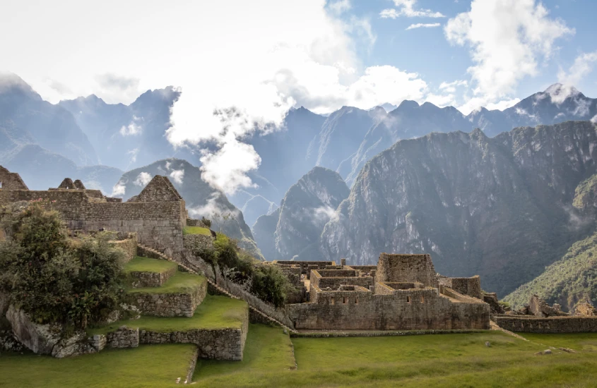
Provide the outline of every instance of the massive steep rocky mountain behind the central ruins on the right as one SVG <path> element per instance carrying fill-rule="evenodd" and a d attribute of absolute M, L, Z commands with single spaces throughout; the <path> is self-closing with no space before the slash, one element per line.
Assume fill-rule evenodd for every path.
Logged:
<path fill-rule="evenodd" d="M 572 201 L 595 173 L 596 147 L 589 121 L 400 140 L 360 171 L 321 252 L 355 264 L 430 253 L 438 272 L 480 274 L 484 289 L 504 295 L 591 231 Z"/>

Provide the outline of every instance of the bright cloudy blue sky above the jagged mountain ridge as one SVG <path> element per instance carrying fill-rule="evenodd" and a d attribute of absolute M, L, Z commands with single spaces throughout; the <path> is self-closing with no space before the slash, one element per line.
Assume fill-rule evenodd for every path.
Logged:
<path fill-rule="evenodd" d="M 468 114 L 556 82 L 597 97 L 595 15 L 594 0 L 0 0 L 0 71 L 52 103 L 180 87 L 168 140 L 215 140 L 202 168 L 235 190 L 260 163 L 244 136 L 291 107 Z"/>

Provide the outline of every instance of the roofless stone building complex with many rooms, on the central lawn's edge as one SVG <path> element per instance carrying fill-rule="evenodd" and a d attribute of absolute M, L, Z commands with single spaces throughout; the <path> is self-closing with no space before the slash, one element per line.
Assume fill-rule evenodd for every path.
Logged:
<path fill-rule="evenodd" d="M 430 255 L 382 253 L 377 266 L 274 264 L 285 272 L 311 267 L 309 301 L 286 307 L 296 329 L 490 327 L 490 306 L 480 299 L 479 278 L 439 277 Z"/>

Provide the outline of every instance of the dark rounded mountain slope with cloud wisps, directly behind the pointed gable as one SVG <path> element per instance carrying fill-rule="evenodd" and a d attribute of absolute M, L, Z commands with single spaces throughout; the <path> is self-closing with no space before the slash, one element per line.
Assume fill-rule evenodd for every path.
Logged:
<path fill-rule="evenodd" d="M 236 238 L 241 248 L 262 259 L 243 214 L 226 195 L 201 179 L 201 170 L 182 159 L 164 159 L 131 171 L 119 179 L 112 195 L 128 200 L 155 175 L 167 176 L 184 199 L 189 217 L 211 219 L 211 228 Z M 232 217 L 228 217 L 228 215 Z M 227 218 L 227 219 L 225 219 Z"/>

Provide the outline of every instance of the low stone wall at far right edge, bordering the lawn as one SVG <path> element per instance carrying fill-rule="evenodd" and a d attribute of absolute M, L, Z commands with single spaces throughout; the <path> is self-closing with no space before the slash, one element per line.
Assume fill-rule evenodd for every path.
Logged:
<path fill-rule="evenodd" d="M 524 317 L 494 316 L 502 329 L 526 333 L 594 333 L 597 317 Z"/>

